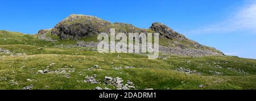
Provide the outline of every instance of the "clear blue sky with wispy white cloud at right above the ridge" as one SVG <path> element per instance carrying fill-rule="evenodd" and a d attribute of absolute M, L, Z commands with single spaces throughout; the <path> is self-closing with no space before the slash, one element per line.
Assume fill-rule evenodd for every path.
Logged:
<path fill-rule="evenodd" d="M 4 0 L 0 30 L 37 33 L 70 14 L 148 28 L 161 22 L 225 54 L 256 58 L 256 1 L 253 0 Z"/>

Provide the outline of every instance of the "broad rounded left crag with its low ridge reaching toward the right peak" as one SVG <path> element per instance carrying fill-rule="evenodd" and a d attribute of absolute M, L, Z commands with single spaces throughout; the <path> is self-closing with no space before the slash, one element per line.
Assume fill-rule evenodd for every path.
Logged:
<path fill-rule="evenodd" d="M 97 35 L 101 32 L 109 32 L 110 28 L 115 28 L 115 32 L 146 32 L 126 23 L 110 23 L 106 20 L 94 16 L 72 14 L 58 23 L 53 29 L 52 34 L 58 35 L 63 39 L 80 39 L 86 36 Z"/>

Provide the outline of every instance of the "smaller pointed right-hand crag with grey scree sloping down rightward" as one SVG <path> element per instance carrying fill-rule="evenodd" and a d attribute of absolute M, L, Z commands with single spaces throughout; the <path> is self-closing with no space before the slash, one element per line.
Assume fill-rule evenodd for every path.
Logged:
<path fill-rule="evenodd" d="M 150 30 L 160 34 L 162 39 L 172 40 L 169 46 L 160 46 L 159 50 L 165 54 L 179 54 L 182 56 L 222 56 L 224 55 L 215 48 L 207 47 L 196 41 L 187 39 L 184 35 L 175 32 L 163 23 L 153 23 Z M 167 42 L 168 43 L 168 42 Z"/>

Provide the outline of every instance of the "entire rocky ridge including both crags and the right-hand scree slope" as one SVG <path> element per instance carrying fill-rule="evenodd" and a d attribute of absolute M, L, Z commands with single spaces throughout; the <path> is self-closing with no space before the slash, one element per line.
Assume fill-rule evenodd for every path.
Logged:
<path fill-rule="evenodd" d="M 94 16 L 72 14 L 52 28 L 50 33 L 59 36 L 61 40 L 78 40 L 83 37 L 95 36 L 100 32 L 108 33 L 110 28 L 115 28 L 116 33 L 157 32 L 160 34 L 160 52 L 164 54 L 179 54 L 183 56 L 224 55 L 215 48 L 187 39 L 184 35 L 172 30 L 163 23 L 153 23 L 150 28 L 142 29 L 126 23 L 110 23 Z M 40 32 L 42 33 L 42 31 Z"/>

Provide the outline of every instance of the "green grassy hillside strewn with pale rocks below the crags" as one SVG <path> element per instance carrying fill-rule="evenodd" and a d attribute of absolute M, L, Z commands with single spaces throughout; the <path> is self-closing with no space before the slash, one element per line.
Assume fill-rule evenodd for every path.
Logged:
<path fill-rule="evenodd" d="M 23 89 L 29 85 L 33 89 L 115 89 L 104 85 L 105 76 L 121 77 L 125 83 L 130 80 L 135 89 L 256 89 L 256 60 L 166 55 L 148 60 L 141 54 L 100 54 L 90 48 L 55 46 L 72 43 L 76 41 L 53 43 L 38 40 L 35 35 L 0 31 L 0 48 L 11 52 L 0 52 L 0 89 Z M 91 69 L 94 65 L 100 68 Z M 38 73 L 46 69 L 51 72 Z M 183 73 L 185 70 L 191 73 Z M 87 75 L 93 74 L 101 83 L 84 82 Z"/>

